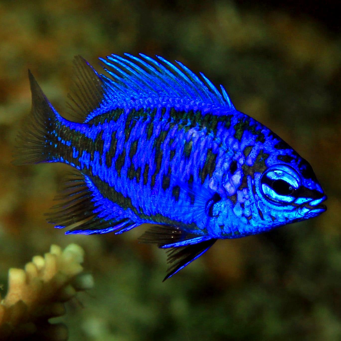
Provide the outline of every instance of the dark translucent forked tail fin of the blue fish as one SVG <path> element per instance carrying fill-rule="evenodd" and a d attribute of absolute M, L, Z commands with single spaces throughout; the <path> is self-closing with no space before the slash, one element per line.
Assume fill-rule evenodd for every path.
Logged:
<path fill-rule="evenodd" d="M 45 97 L 30 70 L 32 92 L 31 113 L 18 134 L 13 164 L 25 165 L 53 161 L 51 134 L 55 130 L 58 113 Z"/>

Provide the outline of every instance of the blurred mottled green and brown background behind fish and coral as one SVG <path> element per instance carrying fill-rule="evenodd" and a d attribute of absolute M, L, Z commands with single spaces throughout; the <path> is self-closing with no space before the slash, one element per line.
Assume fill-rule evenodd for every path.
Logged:
<path fill-rule="evenodd" d="M 68 303 L 58 319 L 69 326 L 70 340 L 341 340 L 341 35 L 328 14 L 316 17 L 318 9 L 279 7 L 0 2 L 4 292 L 9 267 L 22 267 L 51 243 L 76 242 L 86 250 L 95 288 Z M 220 240 L 164 283 L 166 256 L 137 243 L 143 228 L 122 236 L 65 236 L 46 223 L 43 213 L 68 167 L 11 165 L 30 109 L 27 69 L 63 114 L 73 56 L 96 65 L 99 56 L 123 52 L 177 59 L 223 84 L 238 110 L 311 163 L 328 211 L 264 235 Z"/>

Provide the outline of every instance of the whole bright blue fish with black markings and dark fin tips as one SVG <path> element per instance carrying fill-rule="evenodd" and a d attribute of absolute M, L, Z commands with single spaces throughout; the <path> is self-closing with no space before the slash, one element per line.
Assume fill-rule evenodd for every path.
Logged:
<path fill-rule="evenodd" d="M 120 234 L 168 251 L 165 279 L 217 239 L 318 216 L 327 198 L 310 164 L 181 62 L 111 55 L 106 75 L 75 57 L 72 121 L 29 72 L 32 110 L 16 164 L 73 167 L 49 213 L 66 234 Z"/>

